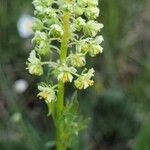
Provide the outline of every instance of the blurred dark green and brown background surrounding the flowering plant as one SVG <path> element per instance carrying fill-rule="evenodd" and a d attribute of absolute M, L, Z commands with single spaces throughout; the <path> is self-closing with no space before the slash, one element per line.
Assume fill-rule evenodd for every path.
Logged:
<path fill-rule="evenodd" d="M 54 149 L 52 119 L 36 98 L 42 79 L 25 70 L 32 35 L 17 28 L 33 16 L 31 2 L 0 0 L 0 150 Z M 101 0 L 99 7 L 104 53 L 88 61 L 95 85 L 78 99 L 91 121 L 72 149 L 150 150 L 150 1 Z"/>

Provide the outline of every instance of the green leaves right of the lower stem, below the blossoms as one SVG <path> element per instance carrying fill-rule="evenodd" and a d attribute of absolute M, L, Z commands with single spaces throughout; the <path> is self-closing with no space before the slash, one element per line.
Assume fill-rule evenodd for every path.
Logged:
<path fill-rule="evenodd" d="M 71 145 L 74 135 L 78 136 L 79 132 L 85 129 L 89 122 L 89 119 L 83 119 L 78 115 L 78 105 L 77 95 L 74 93 L 64 107 L 63 114 L 58 121 L 63 130 L 61 134 L 62 142 L 67 147 Z"/>

